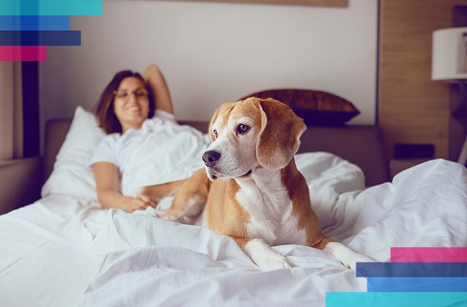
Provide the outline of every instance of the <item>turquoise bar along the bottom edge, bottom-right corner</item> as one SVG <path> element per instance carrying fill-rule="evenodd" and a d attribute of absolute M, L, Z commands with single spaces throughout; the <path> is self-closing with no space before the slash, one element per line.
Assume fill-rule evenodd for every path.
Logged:
<path fill-rule="evenodd" d="M 467 306 L 464 292 L 328 292 L 326 307 L 461 307 Z"/>

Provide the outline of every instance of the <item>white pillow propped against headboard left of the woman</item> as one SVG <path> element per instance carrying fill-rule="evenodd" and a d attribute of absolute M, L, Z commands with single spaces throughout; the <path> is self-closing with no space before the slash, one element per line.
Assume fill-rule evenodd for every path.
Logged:
<path fill-rule="evenodd" d="M 93 113 L 78 106 L 67 137 L 58 151 L 54 170 L 43 185 L 41 195 L 65 194 L 97 199 L 89 160 L 104 135 Z"/>

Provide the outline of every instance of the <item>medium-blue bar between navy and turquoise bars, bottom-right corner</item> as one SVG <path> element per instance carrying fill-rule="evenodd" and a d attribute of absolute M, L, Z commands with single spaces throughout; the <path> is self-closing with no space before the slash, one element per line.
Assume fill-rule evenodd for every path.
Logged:
<path fill-rule="evenodd" d="M 467 277 L 369 277 L 368 292 L 467 292 Z"/>

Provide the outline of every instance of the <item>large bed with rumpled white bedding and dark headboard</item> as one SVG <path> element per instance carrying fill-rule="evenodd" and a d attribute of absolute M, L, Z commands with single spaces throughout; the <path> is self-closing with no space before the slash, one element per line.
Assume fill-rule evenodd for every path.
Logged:
<path fill-rule="evenodd" d="M 181 124 L 201 150 L 207 123 Z M 323 251 L 274 247 L 295 267 L 260 271 L 209 229 L 100 209 L 86 161 L 101 137 L 80 107 L 47 123 L 42 197 L 0 216 L 2 306 L 324 306 L 326 293 L 366 291 Z M 309 126 L 301 141 L 297 167 L 328 236 L 380 262 L 391 247 L 467 247 L 464 166 L 437 159 L 389 181 L 376 126 Z"/>

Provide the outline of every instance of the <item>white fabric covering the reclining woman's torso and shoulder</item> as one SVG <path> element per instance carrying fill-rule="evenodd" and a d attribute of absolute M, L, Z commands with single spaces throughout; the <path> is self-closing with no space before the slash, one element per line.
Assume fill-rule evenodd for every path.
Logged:
<path fill-rule="evenodd" d="M 208 144 L 207 135 L 181 126 L 173 116 L 158 111 L 141 129 L 106 135 L 89 164 L 115 164 L 122 179 L 122 194 L 136 196 L 145 185 L 190 177 L 203 167 L 201 156 Z"/>

